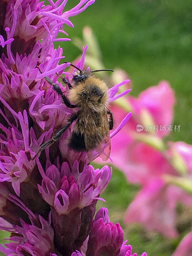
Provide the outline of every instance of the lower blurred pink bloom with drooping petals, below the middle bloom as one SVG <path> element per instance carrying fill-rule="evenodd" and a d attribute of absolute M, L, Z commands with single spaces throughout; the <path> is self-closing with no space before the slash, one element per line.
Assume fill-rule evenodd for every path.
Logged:
<path fill-rule="evenodd" d="M 146 228 L 156 230 L 165 236 L 175 237 L 176 205 L 178 201 L 192 204 L 192 198 L 182 189 L 166 186 L 160 179 L 144 186 L 129 205 L 125 221 L 140 222 Z"/>

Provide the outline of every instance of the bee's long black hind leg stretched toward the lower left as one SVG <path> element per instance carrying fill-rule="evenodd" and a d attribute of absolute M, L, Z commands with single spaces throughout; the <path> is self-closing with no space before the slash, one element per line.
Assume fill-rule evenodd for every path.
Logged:
<path fill-rule="evenodd" d="M 39 152 L 41 152 L 44 148 L 51 146 L 52 143 L 57 141 L 60 138 L 60 136 L 69 128 L 69 126 L 73 123 L 73 121 L 77 119 L 77 117 L 78 117 L 78 112 L 71 116 L 71 118 L 68 120 L 68 124 L 66 124 L 62 129 L 60 129 L 59 132 L 57 132 L 50 140 L 46 141 L 43 145 L 41 145 L 41 147 L 39 148 L 36 155 L 32 158 L 32 160 L 34 160 L 35 157 L 39 154 Z"/>

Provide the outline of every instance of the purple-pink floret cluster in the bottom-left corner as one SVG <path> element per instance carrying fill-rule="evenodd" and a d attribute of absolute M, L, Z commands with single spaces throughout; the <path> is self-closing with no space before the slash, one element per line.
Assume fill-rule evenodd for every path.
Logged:
<path fill-rule="evenodd" d="M 0 245 L 0 250 L 5 254 L 36 256 L 49 255 L 51 252 L 54 252 L 53 229 L 50 225 L 50 221 L 47 222 L 41 216 L 38 218 L 35 217 L 32 225 L 21 220 L 21 226 L 7 223 L 6 226 L 2 228 L 12 232 L 10 240 L 14 241 L 5 244 L 7 249 Z"/>

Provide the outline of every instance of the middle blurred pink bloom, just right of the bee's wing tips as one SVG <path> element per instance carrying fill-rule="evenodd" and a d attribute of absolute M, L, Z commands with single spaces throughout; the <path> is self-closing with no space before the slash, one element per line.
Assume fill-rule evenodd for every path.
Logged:
<path fill-rule="evenodd" d="M 136 142 L 124 133 L 123 136 L 120 133 L 116 137 L 117 139 L 112 139 L 111 158 L 113 164 L 120 170 L 123 170 L 130 182 L 145 185 L 154 178 L 161 177 L 163 174 L 176 174 L 172 165 L 159 150 L 143 142 Z M 119 149 L 121 159 L 114 153 L 117 150 L 117 143 L 122 146 Z"/>

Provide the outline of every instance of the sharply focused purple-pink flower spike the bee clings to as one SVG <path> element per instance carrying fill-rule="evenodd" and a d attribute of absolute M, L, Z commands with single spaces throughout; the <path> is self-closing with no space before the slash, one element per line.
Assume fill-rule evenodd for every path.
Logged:
<path fill-rule="evenodd" d="M 92 151 L 68 148 L 73 125 L 61 139 L 36 155 L 41 144 L 63 127 L 76 110 L 67 108 L 60 95 L 45 81 L 58 75 L 70 63 L 59 65 L 62 48 L 54 49 L 63 25 L 73 27 L 71 16 L 83 12 L 94 0 L 81 0 L 64 11 L 67 0 L 0 0 L 0 228 L 11 232 L 11 243 L 0 250 L 18 256 L 131 256 L 123 243 L 123 230 L 109 221 L 108 210 L 95 214 L 96 203 L 111 179 L 107 165 L 94 169 Z M 77 67 L 84 69 L 85 53 Z M 108 90 L 109 102 L 125 80 Z M 66 95 L 68 88 L 59 84 Z M 127 114 L 111 137 L 130 119 Z M 103 149 L 105 145 L 103 145 Z M 110 253 L 110 254 L 109 254 Z M 135 255 L 135 254 L 133 254 Z M 144 255 L 144 254 L 143 254 Z"/>

